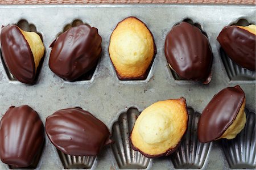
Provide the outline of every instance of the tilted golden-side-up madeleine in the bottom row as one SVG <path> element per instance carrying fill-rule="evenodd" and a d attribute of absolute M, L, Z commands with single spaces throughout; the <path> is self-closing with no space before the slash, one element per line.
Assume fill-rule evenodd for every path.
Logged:
<path fill-rule="evenodd" d="M 139 114 L 133 131 L 133 149 L 148 158 L 167 156 L 175 151 L 188 126 L 186 101 L 158 101 Z"/>

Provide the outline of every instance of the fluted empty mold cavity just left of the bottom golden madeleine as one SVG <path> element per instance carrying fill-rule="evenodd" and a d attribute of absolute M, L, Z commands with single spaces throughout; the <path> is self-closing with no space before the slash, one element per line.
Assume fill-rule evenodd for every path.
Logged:
<path fill-rule="evenodd" d="M 119 116 L 112 127 L 112 139 L 115 142 L 111 147 L 120 169 L 144 169 L 150 162 L 150 158 L 134 151 L 130 143 L 130 133 L 139 113 L 138 109 L 128 109 Z"/>

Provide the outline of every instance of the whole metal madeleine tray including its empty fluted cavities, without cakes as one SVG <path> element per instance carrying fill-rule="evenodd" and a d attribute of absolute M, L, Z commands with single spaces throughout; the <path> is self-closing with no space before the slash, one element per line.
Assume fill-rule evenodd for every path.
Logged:
<path fill-rule="evenodd" d="M 157 54 L 145 80 L 119 80 L 109 58 L 110 35 L 117 23 L 128 16 L 141 19 L 154 36 Z M 255 168 L 255 72 L 237 68 L 220 52 L 216 40 L 225 25 L 239 20 L 241 24 L 255 24 L 255 16 L 254 5 L 1 5 L 0 25 L 20 20 L 23 20 L 19 22 L 23 27 L 33 24 L 42 34 L 46 46 L 42 70 L 34 86 L 7 76 L 1 61 L 1 117 L 11 105 L 28 104 L 40 114 L 45 124 L 46 117 L 53 112 L 79 106 L 93 113 L 113 132 L 116 142 L 105 147 L 96 158 L 59 156 L 46 137 L 37 169 L 63 169 L 72 164 L 75 168 L 80 163 L 92 169 Z M 92 79 L 66 82 L 49 69 L 51 49 L 48 46 L 65 25 L 76 19 L 98 28 L 102 37 L 102 54 Z M 167 33 L 184 19 L 200 24 L 207 33 L 214 56 L 212 81 L 207 85 L 175 78 L 164 56 Z M 214 94 L 236 84 L 246 95 L 245 130 L 233 141 L 199 143 L 194 135 L 200 113 Z M 180 96 L 187 99 L 190 122 L 188 134 L 177 152 L 165 158 L 147 159 L 131 150 L 129 130 L 139 112 L 158 100 Z M 0 169 L 8 169 L 8 166 L 0 163 Z"/>

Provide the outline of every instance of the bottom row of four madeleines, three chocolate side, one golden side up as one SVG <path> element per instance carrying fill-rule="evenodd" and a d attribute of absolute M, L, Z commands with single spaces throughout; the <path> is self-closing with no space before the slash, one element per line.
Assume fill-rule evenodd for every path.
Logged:
<path fill-rule="evenodd" d="M 201 114 L 200 142 L 233 139 L 246 123 L 245 94 L 240 86 L 214 95 Z M 188 128 L 186 100 L 158 101 L 139 114 L 130 141 L 148 158 L 167 156 L 179 147 Z M 112 141 L 107 126 L 82 108 L 61 109 L 46 118 L 46 134 L 63 154 L 97 156 Z M 0 157 L 11 168 L 28 167 L 40 158 L 44 143 L 43 122 L 28 105 L 10 107 L 0 122 Z"/>

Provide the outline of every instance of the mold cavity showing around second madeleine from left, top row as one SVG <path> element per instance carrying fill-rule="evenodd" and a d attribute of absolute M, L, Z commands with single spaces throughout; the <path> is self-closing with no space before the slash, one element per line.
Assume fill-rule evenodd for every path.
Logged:
<path fill-rule="evenodd" d="M 57 33 L 57 36 L 56 37 L 59 37 L 61 35 L 61 33 L 64 33 L 65 31 L 68 31 L 69 28 L 72 28 L 72 27 L 76 27 L 76 26 L 79 26 L 79 25 L 82 25 L 82 24 L 85 24 L 85 25 L 88 25 L 90 27 L 89 24 L 87 23 L 84 23 L 82 22 L 82 20 L 80 19 L 75 19 L 73 20 L 72 23 L 68 23 L 66 25 L 64 25 L 64 28 L 63 28 L 63 31 Z M 101 55 L 101 54 L 100 54 Z M 99 59 L 101 58 L 101 56 L 99 57 Z M 99 61 L 98 59 L 98 61 Z M 72 82 L 77 82 L 77 81 L 84 81 L 84 80 L 90 80 L 92 79 L 92 76 L 96 70 L 96 67 L 98 65 L 98 61 L 97 61 L 97 64 L 92 67 L 92 69 L 90 69 L 87 73 L 85 73 L 84 75 L 81 75 L 79 78 L 77 78 L 76 80 L 73 80 Z"/>

